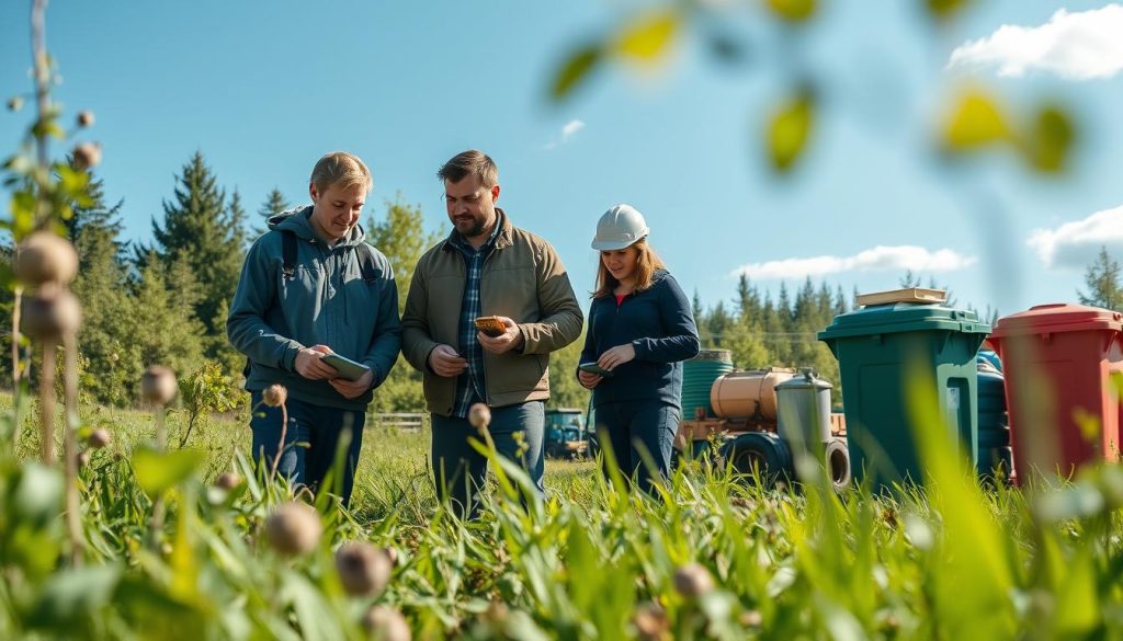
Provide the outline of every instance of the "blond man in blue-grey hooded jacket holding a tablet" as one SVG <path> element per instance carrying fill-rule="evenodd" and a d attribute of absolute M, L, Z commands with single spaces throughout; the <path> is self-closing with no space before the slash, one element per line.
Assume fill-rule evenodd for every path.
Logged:
<path fill-rule="evenodd" d="M 230 345 L 249 359 L 254 460 L 264 458 L 292 483 L 316 491 L 347 434 L 343 477 L 336 479 L 345 505 L 366 406 L 401 347 L 393 268 L 358 225 L 372 184 L 357 156 L 320 158 L 309 181 L 312 204 L 271 219 L 270 231 L 250 247 L 226 323 Z M 328 354 L 367 369 L 348 379 L 323 360 Z M 273 384 L 287 388 L 284 408 L 262 403 Z"/>

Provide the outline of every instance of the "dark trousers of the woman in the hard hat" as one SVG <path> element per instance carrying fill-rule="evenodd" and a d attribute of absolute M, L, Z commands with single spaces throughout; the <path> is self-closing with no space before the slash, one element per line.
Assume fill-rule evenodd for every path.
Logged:
<path fill-rule="evenodd" d="M 624 478 L 636 477 L 639 486 L 651 484 L 670 473 L 670 450 L 678 431 L 679 410 L 659 401 L 621 401 L 596 406 L 596 433 L 612 446 L 612 454 Z M 651 470 L 643 454 L 655 464 Z M 604 460 L 608 465 L 608 460 Z M 608 467 L 603 468 L 608 477 Z M 655 473 L 652 475 L 652 471 Z"/>

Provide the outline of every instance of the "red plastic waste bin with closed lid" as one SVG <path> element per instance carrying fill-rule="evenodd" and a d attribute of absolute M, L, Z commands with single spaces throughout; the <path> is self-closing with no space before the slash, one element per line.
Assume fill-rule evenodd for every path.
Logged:
<path fill-rule="evenodd" d="M 1014 469 L 1071 474 L 1093 460 L 1120 458 L 1123 404 L 1112 376 L 1123 376 L 1123 314 L 1047 304 L 995 323 L 989 341 L 1006 377 Z"/>

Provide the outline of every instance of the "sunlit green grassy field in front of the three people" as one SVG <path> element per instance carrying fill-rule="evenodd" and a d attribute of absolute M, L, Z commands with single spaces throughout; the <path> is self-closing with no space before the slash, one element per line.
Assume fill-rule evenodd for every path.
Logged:
<path fill-rule="evenodd" d="M 545 503 L 521 507 L 504 488 L 524 479 L 501 469 L 465 523 L 436 504 L 428 434 L 368 430 L 353 510 L 319 497 L 322 535 L 282 553 L 266 523 L 292 496 L 252 478 L 244 420 L 210 420 L 154 459 L 150 413 L 83 415 L 115 434 L 81 473 L 83 567 L 67 560 L 60 473 L 28 463 L 34 412 L 22 463 L 4 459 L 0 638 L 399 639 L 399 614 L 417 639 L 1123 637 L 1115 467 L 986 491 L 926 439 L 923 495 L 838 496 L 821 475 L 766 491 L 694 465 L 652 500 L 592 463 L 549 461 Z M 184 416 L 167 424 L 177 443 Z M 232 491 L 212 485 L 227 470 L 245 478 Z M 384 586 L 347 587 L 347 541 L 391 550 Z"/>

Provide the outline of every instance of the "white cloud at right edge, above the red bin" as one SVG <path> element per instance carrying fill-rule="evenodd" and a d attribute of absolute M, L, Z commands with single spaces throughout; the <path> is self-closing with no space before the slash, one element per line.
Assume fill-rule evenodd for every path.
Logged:
<path fill-rule="evenodd" d="M 1123 207 L 1097 211 L 1056 229 L 1035 229 L 1025 244 L 1047 267 L 1085 267 L 1101 247 L 1123 255 Z"/>

